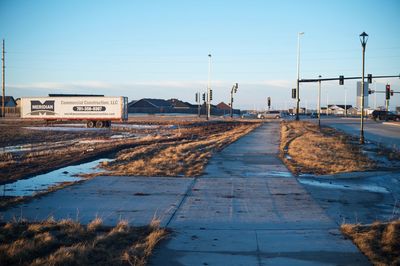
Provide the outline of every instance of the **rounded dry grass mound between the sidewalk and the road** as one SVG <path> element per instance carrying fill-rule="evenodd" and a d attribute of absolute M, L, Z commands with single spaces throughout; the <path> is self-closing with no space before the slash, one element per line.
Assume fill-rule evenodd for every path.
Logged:
<path fill-rule="evenodd" d="M 295 174 L 336 174 L 375 167 L 350 137 L 309 122 L 282 122 L 282 158 Z M 291 157 L 287 158 L 286 155 Z"/>

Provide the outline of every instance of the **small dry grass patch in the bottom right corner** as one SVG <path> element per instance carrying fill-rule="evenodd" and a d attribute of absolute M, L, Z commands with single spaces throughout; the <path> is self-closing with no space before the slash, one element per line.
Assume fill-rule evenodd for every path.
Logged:
<path fill-rule="evenodd" d="M 400 220 L 372 225 L 343 224 L 341 230 L 374 265 L 400 265 Z"/>

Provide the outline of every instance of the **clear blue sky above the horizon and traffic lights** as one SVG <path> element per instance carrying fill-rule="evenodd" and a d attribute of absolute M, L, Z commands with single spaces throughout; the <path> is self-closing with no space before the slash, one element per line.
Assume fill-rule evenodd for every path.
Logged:
<path fill-rule="evenodd" d="M 194 102 L 207 86 L 212 54 L 213 103 L 291 107 L 297 33 L 302 78 L 360 76 L 359 34 L 370 35 L 366 73 L 400 73 L 400 1 L 0 1 L 6 41 L 7 94 L 96 93 Z M 400 91 L 400 80 L 389 82 Z M 355 103 L 355 82 L 323 83 L 322 102 Z M 317 84 L 301 87 L 316 105 Z M 376 96 L 377 105 L 384 95 Z M 370 103 L 373 102 L 370 99 Z M 400 105 L 400 94 L 391 107 Z"/>

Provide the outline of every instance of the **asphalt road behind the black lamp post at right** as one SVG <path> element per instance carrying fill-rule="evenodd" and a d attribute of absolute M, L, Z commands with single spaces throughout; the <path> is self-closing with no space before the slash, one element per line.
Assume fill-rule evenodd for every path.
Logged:
<path fill-rule="evenodd" d="M 311 121 L 318 122 L 317 119 L 312 119 Z M 348 134 L 360 136 L 359 118 L 323 118 L 321 119 L 321 125 L 331 126 Z M 400 151 L 400 123 L 364 120 L 364 138 Z"/>

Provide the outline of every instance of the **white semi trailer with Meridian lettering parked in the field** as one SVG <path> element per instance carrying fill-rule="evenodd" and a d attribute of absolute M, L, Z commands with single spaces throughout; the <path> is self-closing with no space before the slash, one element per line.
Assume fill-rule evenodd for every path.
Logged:
<path fill-rule="evenodd" d="M 21 117 L 44 120 L 80 120 L 87 127 L 110 127 L 128 120 L 128 97 L 55 96 L 21 98 Z"/>

